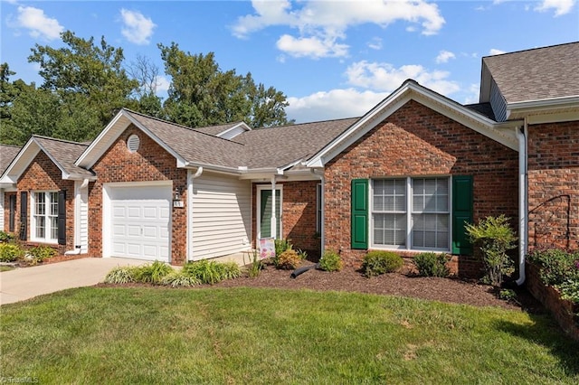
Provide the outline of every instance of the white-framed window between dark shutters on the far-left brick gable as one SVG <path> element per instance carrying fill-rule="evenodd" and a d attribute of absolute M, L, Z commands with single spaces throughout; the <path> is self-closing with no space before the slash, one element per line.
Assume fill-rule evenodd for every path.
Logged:
<path fill-rule="evenodd" d="M 34 192 L 33 240 L 58 240 L 58 192 Z"/>

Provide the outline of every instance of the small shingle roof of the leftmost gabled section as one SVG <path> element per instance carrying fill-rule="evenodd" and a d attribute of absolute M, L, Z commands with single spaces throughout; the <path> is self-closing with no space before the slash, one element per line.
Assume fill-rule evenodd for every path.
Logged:
<path fill-rule="evenodd" d="M 90 171 L 74 164 L 84 150 L 87 149 L 88 145 L 45 136 L 33 136 L 33 138 L 61 165 L 67 174 L 79 177 L 94 176 Z"/>

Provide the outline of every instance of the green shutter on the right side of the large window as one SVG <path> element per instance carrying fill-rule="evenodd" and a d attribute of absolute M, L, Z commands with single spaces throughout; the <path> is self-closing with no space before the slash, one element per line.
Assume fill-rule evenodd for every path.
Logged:
<path fill-rule="evenodd" d="M 472 223 L 472 175 L 452 176 L 452 254 L 471 255 L 465 223 Z"/>

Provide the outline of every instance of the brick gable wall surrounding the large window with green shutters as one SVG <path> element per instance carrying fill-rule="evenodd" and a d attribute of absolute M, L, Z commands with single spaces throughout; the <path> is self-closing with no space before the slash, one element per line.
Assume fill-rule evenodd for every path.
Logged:
<path fill-rule="evenodd" d="M 365 255 L 350 249 L 352 179 L 470 174 L 475 221 L 501 213 L 516 219 L 517 168 L 516 151 L 411 100 L 327 164 L 325 248 L 341 251 L 351 266 Z M 461 257 L 453 268 L 478 265 Z"/>

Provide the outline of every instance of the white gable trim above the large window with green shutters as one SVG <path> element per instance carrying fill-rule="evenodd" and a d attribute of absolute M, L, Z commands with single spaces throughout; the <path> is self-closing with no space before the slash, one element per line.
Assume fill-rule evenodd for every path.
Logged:
<path fill-rule="evenodd" d="M 349 127 L 342 135 L 337 136 L 305 165 L 308 167 L 323 167 L 328 161 L 346 150 L 348 146 L 355 143 L 356 140 L 364 136 L 386 117 L 394 114 L 396 110 L 402 108 L 411 99 L 446 117 L 450 117 L 463 126 L 479 132 L 479 134 L 488 136 L 498 143 L 518 151 L 517 138 L 496 129 L 497 124 L 495 121 L 488 117 L 483 117 L 469 108 L 451 101 L 451 99 L 446 99 L 430 89 L 425 89 L 414 82 L 407 82 L 403 87 L 395 90 L 393 94 L 370 110 L 365 117 L 362 117 Z"/>

